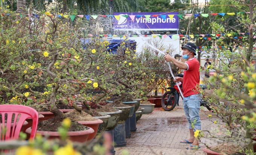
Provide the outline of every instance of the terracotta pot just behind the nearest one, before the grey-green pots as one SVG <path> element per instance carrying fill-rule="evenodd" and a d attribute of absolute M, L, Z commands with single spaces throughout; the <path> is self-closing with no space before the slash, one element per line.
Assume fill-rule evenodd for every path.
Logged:
<path fill-rule="evenodd" d="M 102 120 L 98 119 L 98 118 L 95 118 L 96 120 L 95 121 L 77 121 L 78 123 L 84 125 L 84 126 L 87 126 L 87 127 L 90 127 L 94 130 L 93 133 L 90 133 L 89 136 L 88 136 L 88 139 L 87 139 L 87 142 L 86 143 L 90 143 L 91 140 L 94 139 L 94 137 L 96 136 L 97 134 L 97 131 L 98 131 L 98 128 L 99 128 L 99 124 L 103 123 Z"/>

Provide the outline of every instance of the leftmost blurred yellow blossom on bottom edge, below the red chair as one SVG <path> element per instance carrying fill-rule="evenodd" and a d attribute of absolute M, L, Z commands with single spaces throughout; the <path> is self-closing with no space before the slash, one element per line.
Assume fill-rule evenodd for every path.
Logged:
<path fill-rule="evenodd" d="M 30 146 L 20 146 L 15 155 L 44 155 L 41 149 L 34 149 Z"/>

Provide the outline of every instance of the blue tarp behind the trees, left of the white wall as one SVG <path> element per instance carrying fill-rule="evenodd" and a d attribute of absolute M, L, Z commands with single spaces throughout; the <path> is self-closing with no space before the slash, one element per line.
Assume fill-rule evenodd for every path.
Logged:
<path fill-rule="evenodd" d="M 81 39 L 82 43 L 84 43 L 84 49 L 87 48 L 88 45 L 90 45 L 90 41 L 92 41 L 92 39 L 87 38 L 87 39 Z M 112 54 L 116 54 L 116 51 L 118 49 L 118 47 L 121 45 L 122 42 L 125 42 L 125 48 L 129 48 L 131 50 L 136 50 L 136 41 L 135 40 L 121 40 L 121 39 L 107 39 L 104 40 L 102 39 L 101 42 L 105 42 L 108 41 L 110 43 L 110 45 L 108 45 L 106 47 L 106 49 L 108 50 L 108 52 L 112 53 Z M 111 49 L 111 51 L 110 51 Z M 125 50 L 125 49 L 124 49 Z"/>

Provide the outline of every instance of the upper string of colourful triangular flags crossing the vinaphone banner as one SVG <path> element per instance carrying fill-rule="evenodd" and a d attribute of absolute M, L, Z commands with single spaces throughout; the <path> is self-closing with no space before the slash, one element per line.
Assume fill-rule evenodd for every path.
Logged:
<path fill-rule="evenodd" d="M 174 18 L 174 16 L 178 16 L 178 18 L 180 19 L 183 19 L 183 16 L 184 15 L 187 15 L 187 16 L 192 16 L 194 15 L 195 18 L 197 18 L 199 15 L 203 16 L 203 17 L 208 17 L 209 15 L 213 15 L 213 16 L 216 16 L 216 15 L 221 15 L 221 16 L 224 16 L 224 15 L 230 15 L 230 16 L 233 16 L 235 14 L 238 14 L 238 13 L 245 13 L 245 12 L 231 12 L 231 13 L 198 13 L 198 14 L 180 14 L 180 15 L 58 15 L 59 18 L 61 18 L 62 16 L 64 18 L 68 18 L 70 17 L 70 19 L 73 21 L 75 19 L 76 16 L 79 16 L 81 18 L 85 17 L 87 20 L 90 19 L 90 17 L 92 17 L 93 19 L 97 19 L 98 16 L 102 16 L 102 17 L 112 17 L 112 18 L 115 18 L 117 19 L 117 21 L 119 21 L 120 19 L 120 16 L 123 16 L 125 18 L 128 18 L 128 16 L 134 21 L 134 18 L 137 17 L 137 18 L 140 18 L 141 16 L 145 16 L 145 18 L 148 20 L 150 17 L 157 17 L 157 16 L 160 16 L 161 18 L 163 18 L 164 20 L 166 20 L 166 16 L 171 18 Z M 246 12 L 246 13 L 250 13 L 250 12 Z M 31 16 L 29 14 L 27 14 L 28 16 Z M 34 14 L 32 14 L 34 15 Z M 37 18 L 39 18 L 39 15 L 34 15 L 36 16 Z M 22 17 L 22 15 L 21 15 Z"/>

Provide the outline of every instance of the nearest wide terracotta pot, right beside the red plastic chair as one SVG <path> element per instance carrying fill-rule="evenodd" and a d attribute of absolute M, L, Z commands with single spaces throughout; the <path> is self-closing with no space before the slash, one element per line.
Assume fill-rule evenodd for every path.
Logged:
<path fill-rule="evenodd" d="M 28 128 L 26 130 L 26 133 L 31 134 L 31 128 Z M 60 139 L 60 133 L 59 132 L 51 132 L 51 131 L 38 131 L 38 134 L 41 134 L 42 136 L 49 136 L 48 139 Z M 89 127 L 88 130 L 83 131 L 73 131 L 73 132 L 67 132 L 67 136 L 69 136 L 69 139 L 72 142 L 87 142 L 89 134 L 94 133 L 94 130 Z"/>

